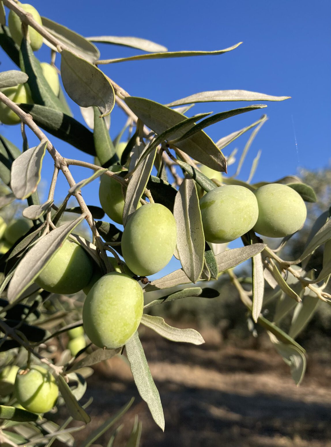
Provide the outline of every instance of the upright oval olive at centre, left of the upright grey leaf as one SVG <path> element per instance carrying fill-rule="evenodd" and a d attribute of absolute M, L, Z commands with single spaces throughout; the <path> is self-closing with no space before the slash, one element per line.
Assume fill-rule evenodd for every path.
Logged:
<path fill-rule="evenodd" d="M 121 248 L 124 261 L 136 275 L 163 269 L 176 247 L 177 228 L 173 214 L 160 203 L 149 203 L 127 220 Z"/>

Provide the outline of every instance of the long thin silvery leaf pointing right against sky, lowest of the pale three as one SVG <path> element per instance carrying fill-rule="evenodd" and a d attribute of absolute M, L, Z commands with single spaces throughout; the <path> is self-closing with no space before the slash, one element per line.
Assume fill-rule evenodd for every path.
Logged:
<path fill-rule="evenodd" d="M 248 92 L 247 90 L 213 90 L 195 93 L 186 98 L 172 101 L 167 106 L 174 107 L 175 105 L 214 101 L 284 101 L 284 99 L 289 98 L 290 96 L 270 96 L 264 93 Z"/>

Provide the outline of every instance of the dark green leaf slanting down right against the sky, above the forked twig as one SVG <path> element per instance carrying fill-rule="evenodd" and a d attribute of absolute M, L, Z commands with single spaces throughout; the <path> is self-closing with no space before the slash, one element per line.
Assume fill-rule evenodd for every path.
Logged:
<path fill-rule="evenodd" d="M 20 107 L 44 131 L 89 155 L 96 155 L 93 133 L 71 116 L 38 104 L 20 104 Z"/>

